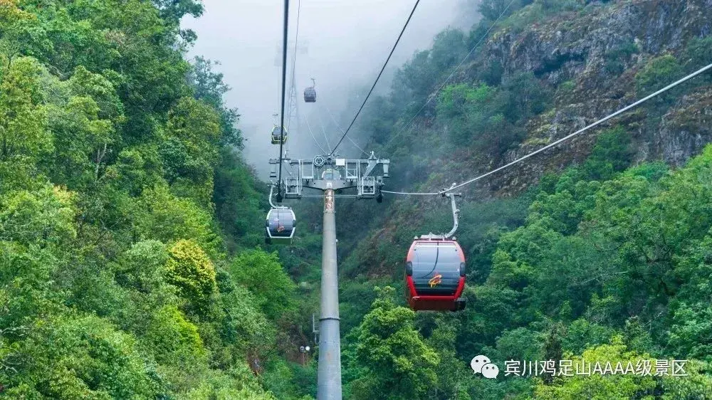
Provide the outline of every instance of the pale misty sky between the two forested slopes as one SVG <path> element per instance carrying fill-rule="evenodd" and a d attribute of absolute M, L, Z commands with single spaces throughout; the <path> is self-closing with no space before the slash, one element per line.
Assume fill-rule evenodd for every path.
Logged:
<path fill-rule="evenodd" d="M 396 49 L 389 66 L 404 63 L 417 49 L 428 48 L 433 36 L 446 26 L 468 28 L 473 23 L 472 0 L 422 0 Z M 299 0 L 290 1 L 289 40 L 294 41 Z M 260 177 L 266 179 L 267 158 L 277 157 L 269 144 L 272 115 L 279 110 L 283 1 L 282 0 L 204 0 L 205 12 L 199 19 L 186 18 L 184 28 L 198 34 L 189 56 L 201 55 L 218 60 L 215 69 L 224 74 L 232 90 L 226 94 L 229 107 L 241 114 L 240 127 L 247 138 L 245 154 Z M 402 29 L 414 0 L 301 0 L 295 83 L 300 122 L 290 126 L 290 156 L 311 158 L 320 153 L 305 125 L 322 147 L 326 136 L 333 146 L 340 137 L 330 123 L 328 112 L 347 120 L 355 110 L 345 110 L 347 96 L 370 86 Z M 288 57 L 290 86 L 293 48 Z M 305 103 L 303 90 L 316 79 L 317 102 Z M 386 90 L 389 82 L 379 81 Z M 287 110 L 286 112 L 287 113 Z M 347 122 L 340 121 L 342 125 Z M 287 122 L 285 122 L 287 125 Z M 322 130 L 325 127 L 325 130 Z M 345 128 L 345 126 L 343 126 Z M 359 142 L 359 140 L 356 140 Z M 340 147 L 345 156 L 358 151 L 347 141 Z"/>

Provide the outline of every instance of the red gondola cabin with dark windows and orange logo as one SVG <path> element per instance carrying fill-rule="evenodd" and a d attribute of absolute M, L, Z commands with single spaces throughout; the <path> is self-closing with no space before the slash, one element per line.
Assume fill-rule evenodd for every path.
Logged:
<path fill-rule="evenodd" d="M 405 267 L 406 298 L 415 311 L 459 311 L 465 288 L 465 256 L 460 245 L 444 238 L 416 239 Z"/>

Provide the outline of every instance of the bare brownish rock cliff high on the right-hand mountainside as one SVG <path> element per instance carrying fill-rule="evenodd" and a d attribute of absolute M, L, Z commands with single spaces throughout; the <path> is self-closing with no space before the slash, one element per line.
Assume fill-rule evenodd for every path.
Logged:
<path fill-rule="evenodd" d="M 647 94 L 637 93 L 634 78 L 651 58 L 664 54 L 681 58 L 691 39 L 703 38 L 711 31 L 712 0 L 630 0 L 589 6 L 535 23 L 524 31 L 496 33 L 462 79 L 498 62 L 503 66 L 503 79 L 530 71 L 545 85 L 557 88 L 553 109 L 528 123 L 527 140 L 506 154 L 508 162 Z M 680 165 L 712 142 L 712 90 L 683 93 L 657 123 L 646 122 L 645 109 L 612 122 L 632 133 L 638 161 L 663 159 Z M 597 132 L 600 130 L 585 133 L 506 170 L 487 185 L 500 194 L 525 189 L 543 172 L 585 159 Z M 486 171 L 493 165 L 470 167 Z"/>

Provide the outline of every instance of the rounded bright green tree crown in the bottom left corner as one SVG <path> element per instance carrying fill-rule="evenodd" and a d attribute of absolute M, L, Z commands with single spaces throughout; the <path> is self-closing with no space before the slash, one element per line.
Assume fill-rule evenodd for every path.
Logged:
<path fill-rule="evenodd" d="M 5 380 L 11 398 L 145 399 L 160 393 L 135 341 L 98 317 L 38 321 L 17 352 L 32 360 Z"/>

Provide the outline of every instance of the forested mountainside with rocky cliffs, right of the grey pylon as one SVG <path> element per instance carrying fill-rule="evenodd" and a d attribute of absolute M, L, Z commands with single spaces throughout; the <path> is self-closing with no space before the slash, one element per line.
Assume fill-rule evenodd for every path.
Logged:
<path fill-rule="evenodd" d="M 392 159 L 389 190 L 437 191 L 476 177 L 712 62 L 708 1 L 508 4 L 482 1 L 481 23 L 440 33 L 367 107 L 358 128 Z M 398 306 L 410 241 L 449 230 L 451 216 L 436 196 L 389 196 L 377 228 L 360 233 L 366 239 L 341 263 L 347 393 L 712 397 L 711 84 L 701 75 L 464 188 L 456 234 L 468 260 L 463 312 L 413 315 Z M 472 375 L 477 354 L 496 360 L 498 379 Z M 506 360 L 582 357 L 691 361 L 689 377 L 503 377 Z"/>

